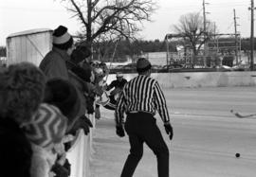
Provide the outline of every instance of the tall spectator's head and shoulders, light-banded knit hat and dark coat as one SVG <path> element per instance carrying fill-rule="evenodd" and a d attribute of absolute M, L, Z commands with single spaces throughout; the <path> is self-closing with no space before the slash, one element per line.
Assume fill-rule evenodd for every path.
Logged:
<path fill-rule="evenodd" d="M 68 33 L 67 27 L 59 26 L 52 33 L 52 50 L 49 51 L 39 67 L 46 74 L 47 79 L 63 78 L 68 80 L 65 65 L 75 48 L 73 37 Z"/>

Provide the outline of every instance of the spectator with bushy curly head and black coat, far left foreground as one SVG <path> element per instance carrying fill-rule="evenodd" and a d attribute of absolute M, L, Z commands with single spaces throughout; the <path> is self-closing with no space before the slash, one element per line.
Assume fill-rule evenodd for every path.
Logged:
<path fill-rule="evenodd" d="M 32 149 L 22 125 L 37 111 L 45 91 L 42 71 L 28 62 L 0 73 L 0 176 L 30 177 Z"/>

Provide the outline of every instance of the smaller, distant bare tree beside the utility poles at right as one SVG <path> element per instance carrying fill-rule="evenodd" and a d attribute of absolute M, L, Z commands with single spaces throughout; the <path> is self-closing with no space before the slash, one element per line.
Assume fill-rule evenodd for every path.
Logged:
<path fill-rule="evenodd" d="M 188 13 L 182 15 L 177 25 L 174 25 L 174 32 L 183 37 L 184 43 L 192 47 L 193 56 L 197 56 L 203 44 L 210 40 L 214 34 L 214 24 L 206 23 L 199 13 Z"/>

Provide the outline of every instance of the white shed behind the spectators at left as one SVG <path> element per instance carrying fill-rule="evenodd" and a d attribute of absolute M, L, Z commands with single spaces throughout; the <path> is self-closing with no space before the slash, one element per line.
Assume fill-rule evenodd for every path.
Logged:
<path fill-rule="evenodd" d="M 39 66 L 52 48 L 52 29 L 37 28 L 7 37 L 7 64 L 32 62 Z"/>

